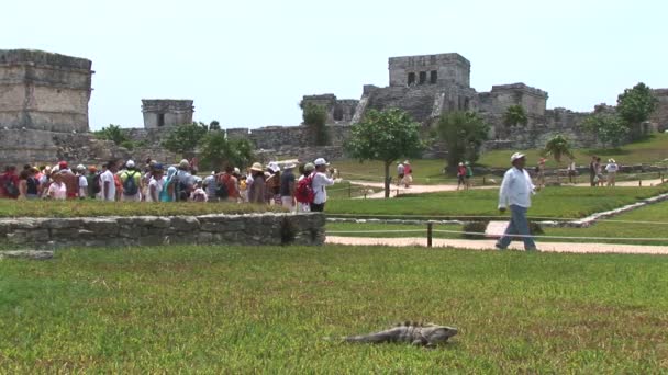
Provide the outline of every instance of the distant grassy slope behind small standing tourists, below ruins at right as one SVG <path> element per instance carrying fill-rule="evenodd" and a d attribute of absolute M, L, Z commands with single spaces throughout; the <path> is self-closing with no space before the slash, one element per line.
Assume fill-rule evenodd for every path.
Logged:
<path fill-rule="evenodd" d="M 535 166 L 541 158 L 539 149 L 522 150 L 526 154 L 526 160 L 530 166 Z M 578 166 L 589 166 L 591 156 L 595 155 L 603 159 L 615 159 L 617 163 L 624 166 L 656 163 L 660 164 L 668 158 L 668 134 L 655 134 L 645 140 L 628 144 L 619 148 L 610 149 L 576 149 L 574 150 L 576 162 Z M 494 150 L 482 155 L 478 163 L 487 167 L 505 168 L 510 163 L 510 156 L 514 151 L 511 150 Z M 566 168 L 568 159 L 563 160 L 561 168 Z M 546 162 L 547 168 L 556 168 L 554 160 L 549 159 Z"/>

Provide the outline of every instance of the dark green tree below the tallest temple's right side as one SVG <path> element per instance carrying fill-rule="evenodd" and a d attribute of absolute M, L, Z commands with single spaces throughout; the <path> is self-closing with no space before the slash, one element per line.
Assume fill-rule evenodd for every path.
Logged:
<path fill-rule="evenodd" d="M 449 170 L 454 171 L 460 161 L 478 160 L 480 147 L 489 134 L 489 125 L 476 113 L 450 112 L 438 120 L 436 130 L 447 148 Z"/>

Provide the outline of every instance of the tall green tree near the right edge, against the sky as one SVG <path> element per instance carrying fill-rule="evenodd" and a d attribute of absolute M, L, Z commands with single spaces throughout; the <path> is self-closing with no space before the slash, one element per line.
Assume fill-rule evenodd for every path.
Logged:
<path fill-rule="evenodd" d="M 634 140 L 642 136 L 641 124 L 649 118 L 657 105 L 658 100 L 652 93 L 652 89 L 643 82 L 624 90 L 617 96 L 617 114 L 626 122 Z"/>

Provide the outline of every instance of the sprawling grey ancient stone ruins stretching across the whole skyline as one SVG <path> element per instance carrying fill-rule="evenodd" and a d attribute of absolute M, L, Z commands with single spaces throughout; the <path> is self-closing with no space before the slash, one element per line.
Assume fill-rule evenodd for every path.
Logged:
<path fill-rule="evenodd" d="M 89 132 L 88 101 L 92 91 L 92 63 L 40 50 L 0 50 L 0 160 L 3 163 L 53 162 L 68 160 L 100 163 L 110 158 L 141 160 L 153 156 L 166 162 L 176 156 L 159 146 L 165 127 L 192 122 L 192 100 L 143 100 L 144 128 L 125 129 L 143 147 L 132 152 L 111 141 L 99 140 Z M 486 147 L 542 147 L 554 134 L 568 136 L 577 146 L 594 146 L 597 139 L 582 132 L 581 120 L 589 113 L 566 109 L 547 110 L 548 94 L 524 83 L 493 86 L 489 92 L 470 87 L 470 63 L 459 54 L 391 57 L 389 86 L 363 87 L 361 98 L 339 100 L 336 95 L 304 95 L 307 103 L 327 111 L 331 146 L 313 147 L 305 126 L 227 128 L 230 137 L 249 139 L 267 159 L 315 157 L 343 158 L 343 144 L 350 125 L 367 111 L 399 107 L 430 126 L 452 111 L 476 111 L 492 126 Z M 650 118 L 658 130 L 668 128 L 668 89 L 654 91 L 659 107 Z M 506 128 L 504 111 L 522 105 L 528 125 Z M 433 150 L 441 155 L 444 150 Z"/>

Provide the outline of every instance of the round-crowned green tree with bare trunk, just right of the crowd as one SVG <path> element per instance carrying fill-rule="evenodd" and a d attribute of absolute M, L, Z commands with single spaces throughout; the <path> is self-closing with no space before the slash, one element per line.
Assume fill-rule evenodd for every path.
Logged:
<path fill-rule="evenodd" d="M 390 197 L 390 166 L 400 158 L 419 157 L 423 144 L 421 125 L 408 113 L 389 109 L 369 110 L 360 123 L 353 125 L 346 149 L 350 156 L 364 160 L 380 160 L 385 166 L 385 197 Z"/>

